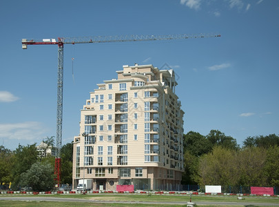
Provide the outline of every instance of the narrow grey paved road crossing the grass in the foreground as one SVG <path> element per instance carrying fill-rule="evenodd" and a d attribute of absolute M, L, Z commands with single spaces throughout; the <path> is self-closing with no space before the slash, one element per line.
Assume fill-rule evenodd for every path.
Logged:
<path fill-rule="evenodd" d="M 94 199 L 75 199 L 75 198 L 62 198 L 62 197 L 0 197 L 0 200 L 12 200 L 12 201 L 61 201 L 61 202 L 83 202 L 83 203 L 107 203 L 107 204 L 176 204 L 185 205 L 187 202 L 127 202 L 127 201 L 100 201 Z M 243 205 L 243 206 L 279 206 L 275 203 L 256 203 L 256 202 L 210 202 L 210 201 L 197 201 L 197 205 Z"/>

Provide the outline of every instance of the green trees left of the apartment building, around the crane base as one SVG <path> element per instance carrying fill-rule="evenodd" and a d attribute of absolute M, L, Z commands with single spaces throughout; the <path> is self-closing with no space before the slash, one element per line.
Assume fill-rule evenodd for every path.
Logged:
<path fill-rule="evenodd" d="M 55 157 L 47 153 L 54 148 L 54 137 L 43 140 L 43 147 L 37 144 L 19 145 L 12 151 L 0 146 L 0 185 L 12 184 L 13 190 L 31 187 L 35 191 L 47 191 L 54 187 Z M 72 144 L 61 148 L 61 184 L 72 184 Z"/>

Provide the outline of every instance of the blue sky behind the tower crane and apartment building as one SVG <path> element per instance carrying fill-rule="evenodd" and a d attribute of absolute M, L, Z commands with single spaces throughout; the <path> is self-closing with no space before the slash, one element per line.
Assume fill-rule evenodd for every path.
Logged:
<path fill-rule="evenodd" d="M 63 141 L 79 134 L 96 83 L 123 65 L 169 66 L 184 130 L 216 129 L 242 144 L 279 134 L 279 1 L 0 1 L 0 144 L 15 149 L 56 136 L 57 46 L 21 39 L 218 33 L 221 37 L 64 47 Z M 74 57 L 74 79 L 72 58 Z"/>

